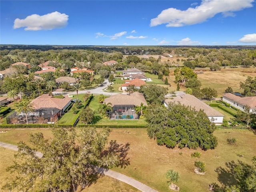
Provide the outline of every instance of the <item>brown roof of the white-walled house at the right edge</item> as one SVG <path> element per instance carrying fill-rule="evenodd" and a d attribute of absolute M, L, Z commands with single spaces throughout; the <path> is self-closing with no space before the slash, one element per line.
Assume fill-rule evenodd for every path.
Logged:
<path fill-rule="evenodd" d="M 234 102 L 237 102 L 243 106 L 249 106 L 250 109 L 256 108 L 256 96 L 254 97 L 239 97 L 231 93 L 226 93 L 223 95 L 223 97 L 229 98 L 233 100 Z"/>

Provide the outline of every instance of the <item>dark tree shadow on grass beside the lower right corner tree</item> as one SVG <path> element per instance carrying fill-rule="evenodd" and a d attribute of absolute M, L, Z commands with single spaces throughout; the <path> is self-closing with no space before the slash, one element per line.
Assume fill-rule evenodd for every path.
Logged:
<path fill-rule="evenodd" d="M 234 168 L 238 165 L 234 161 L 226 162 L 226 167 L 219 166 L 216 168 L 215 172 L 218 173 L 218 181 L 221 183 L 221 186 L 212 183 L 214 186 L 214 192 L 224 192 L 226 186 L 231 186 L 237 184 L 237 180 L 235 178 L 235 170 Z"/>

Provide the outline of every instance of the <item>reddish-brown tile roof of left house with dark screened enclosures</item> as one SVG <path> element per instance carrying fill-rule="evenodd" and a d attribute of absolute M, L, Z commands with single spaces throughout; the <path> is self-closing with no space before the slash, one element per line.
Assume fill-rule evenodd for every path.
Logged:
<path fill-rule="evenodd" d="M 53 98 L 52 96 L 48 94 L 43 94 L 34 100 L 32 100 L 32 104 L 34 105 L 34 108 L 45 108 L 45 107 L 56 107 L 60 110 L 66 106 L 72 98 L 69 98 L 68 96 L 65 96 L 65 98 Z"/>

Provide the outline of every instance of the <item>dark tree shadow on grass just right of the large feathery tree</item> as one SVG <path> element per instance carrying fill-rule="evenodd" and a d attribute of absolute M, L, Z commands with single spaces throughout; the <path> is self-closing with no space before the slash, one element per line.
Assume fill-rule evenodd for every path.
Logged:
<path fill-rule="evenodd" d="M 130 144 L 118 144 L 116 140 L 111 140 L 107 150 L 104 150 L 102 154 L 106 155 L 108 153 L 118 154 L 119 163 L 117 167 L 126 168 L 130 165 L 130 158 L 127 158 L 128 150 L 130 149 Z"/>

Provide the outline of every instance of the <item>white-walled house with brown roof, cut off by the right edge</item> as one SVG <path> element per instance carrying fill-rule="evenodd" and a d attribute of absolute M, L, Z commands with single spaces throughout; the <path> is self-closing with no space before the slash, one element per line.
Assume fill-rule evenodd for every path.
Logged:
<path fill-rule="evenodd" d="M 244 111 L 245 106 L 248 106 L 251 113 L 256 113 L 256 96 L 239 97 L 231 93 L 226 93 L 222 95 L 222 100 L 242 111 Z"/>

